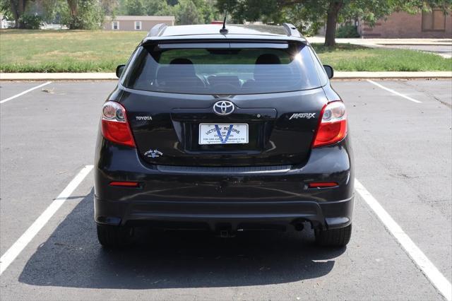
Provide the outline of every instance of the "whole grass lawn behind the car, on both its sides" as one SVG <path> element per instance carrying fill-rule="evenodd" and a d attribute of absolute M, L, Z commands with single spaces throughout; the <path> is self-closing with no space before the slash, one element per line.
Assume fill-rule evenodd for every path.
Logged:
<path fill-rule="evenodd" d="M 146 33 L 85 30 L 0 30 L 1 72 L 112 72 Z M 405 49 L 335 48 L 314 44 L 338 71 L 451 71 L 452 59 Z"/>

